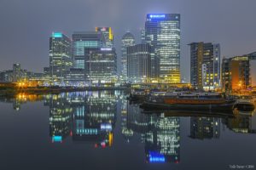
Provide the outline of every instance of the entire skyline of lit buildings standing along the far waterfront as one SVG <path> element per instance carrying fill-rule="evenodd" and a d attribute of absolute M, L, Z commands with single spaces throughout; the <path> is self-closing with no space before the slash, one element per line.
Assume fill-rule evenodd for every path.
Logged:
<path fill-rule="evenodd" d="M 181 81 L 180 14 L 147 14 L 140 42 L 127 31 L 121 39 L 120 73 L 111 27 L 75 31 L 72 37 L 53 32 L 49 37 L 49 66 L 32 73 L 15 64 L 0 72 L 1 82 L 31 80 L 44 85 L 109 87 L 126 83 Z M 221 58 L 220 44 L 191 42 L 190 83 L 197 89 L 232 92 L 251 88 L 256 53 Z"/>

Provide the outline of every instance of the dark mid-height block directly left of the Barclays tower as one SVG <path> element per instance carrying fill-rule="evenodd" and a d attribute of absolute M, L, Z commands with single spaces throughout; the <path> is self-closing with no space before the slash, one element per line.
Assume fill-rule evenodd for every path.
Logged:
<path fill-rule="evenodd" d="M 153 50 L 148 44 L 137 44 L 127 48 L 127 72 L 129 82 L 151 81 L 151 56 Z"/>

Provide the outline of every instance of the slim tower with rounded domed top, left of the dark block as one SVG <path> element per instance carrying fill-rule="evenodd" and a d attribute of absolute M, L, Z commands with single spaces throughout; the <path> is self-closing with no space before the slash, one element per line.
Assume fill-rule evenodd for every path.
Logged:
<path fill-rule="evenodd" d="M 122 59 L 121 59 L 121 76 L 124 82 L 127 81 L 127 47 L 135 45 L 135 38 L 131 32 L 127 31 L 122 37 Z"/>

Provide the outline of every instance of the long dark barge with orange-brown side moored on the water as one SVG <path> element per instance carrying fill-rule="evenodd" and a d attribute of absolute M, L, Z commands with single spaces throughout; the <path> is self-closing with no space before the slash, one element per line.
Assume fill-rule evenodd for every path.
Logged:
<path fill-rule="evenodd" d="M 218 93 L 150 94 L 141 107 L 151 111 L 222 111 L 232 113 L 234 100 L 224 99 Z"/>

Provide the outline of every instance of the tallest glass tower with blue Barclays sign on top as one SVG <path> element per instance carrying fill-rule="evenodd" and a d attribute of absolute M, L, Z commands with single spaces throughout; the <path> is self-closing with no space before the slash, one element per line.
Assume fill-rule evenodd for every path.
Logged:
<path fill-rule="evenodd" d="M 180 82 L 180 14 L 147 14 L 145 42 L 154 49 L 151 75 L 159 82 Z"/>

